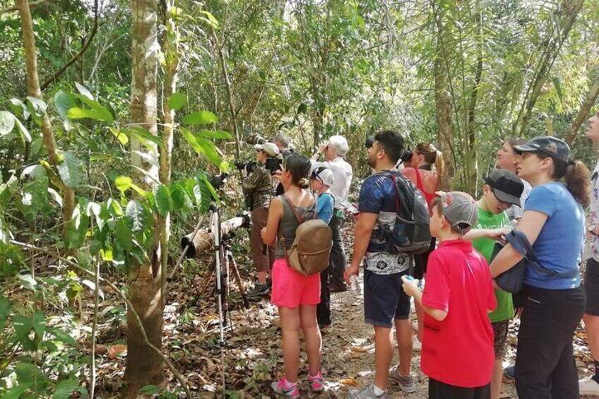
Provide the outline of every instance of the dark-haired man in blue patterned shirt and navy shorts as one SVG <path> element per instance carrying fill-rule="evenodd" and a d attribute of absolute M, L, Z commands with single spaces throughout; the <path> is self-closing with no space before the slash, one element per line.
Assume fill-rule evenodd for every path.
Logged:
<path fill-rule="evenodd" d="M 401 277 L 413 262 L 410 254 L 389 251 L 395 225 L 397 203 L 391 174 L 403 151 L 403 138 L 394 131 L 381 131 L 368 149 L 368 163 L 376 173 L 360 190 L 360 203 L 351 265 L 345 279 L 357 275 L 364 258 L 364 321 L 374 326 L 374 382 L 362 390 L 352 390 L 348 398 L 388 398 L 388 379 L 405 392 L 416 390 L 410 374 L 412 326 L 410 297 L 403 292 Z M 400 204 L 401 205 L 401 204 Z M 393 358 L 393 323 L 397 330 L 400 364 L 389 371 Z"/>

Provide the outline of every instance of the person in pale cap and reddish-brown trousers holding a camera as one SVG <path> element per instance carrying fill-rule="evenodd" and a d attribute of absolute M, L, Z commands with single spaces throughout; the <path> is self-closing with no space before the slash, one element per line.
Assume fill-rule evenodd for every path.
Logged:
<path fill-rule="evenodd" d="M 280 159 L 279 150 L 274 143 L 265 142 L 254 145 L 256 148 L 256 166 L 242 181 L 242 189 L 246 196 L 246 204 L 251 210 L 251 230 L 249 233 L 251 257 L 258 272 L 258 282 L 248 293 L 249 298 L 261 297 L 268 293 L 269 287 L 266 278 L 271 273 L 275 261 L 275 251 L 268 246 L 268 251 L 263 251 L 263 242 L 260 232 L 266 227 L 268 220 L 268 206 L 273 196 L 273 170 L 278 169 Z"/>

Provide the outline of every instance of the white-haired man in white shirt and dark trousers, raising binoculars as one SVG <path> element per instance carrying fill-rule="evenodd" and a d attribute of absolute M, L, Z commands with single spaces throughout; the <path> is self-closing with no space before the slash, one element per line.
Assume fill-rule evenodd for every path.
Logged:
<path fill-rule="evenodd" d="M 345 213 L 343 203 L 347 203 L 352 184 L 352 165 L 345 162 L 343 157 L 349 150 L 348 141 L 343 136 L 331 136 L 327 143 L 319 145 L 318 151 L 312 155 L 312 165 L 316 165 L 321 155 L 324 155 L 324 165 L 333 171 L 335 181 L 329 189 L 329 193 L 335 198 L 335 209 L 333 218 L 328 224 L 333 230 L 333 248 L 331 259 L 328 264 L 328 273 L 331 276 L 331 292 L 341 292 L 348 289 L 343 280 L 345 273 L 345 249 L 341 238 L 341 227 Z"/>

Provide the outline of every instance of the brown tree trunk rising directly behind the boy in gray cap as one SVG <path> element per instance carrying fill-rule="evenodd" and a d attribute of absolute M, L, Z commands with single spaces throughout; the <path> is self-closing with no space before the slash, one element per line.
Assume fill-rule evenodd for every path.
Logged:
<path fill-rule="evenodd" d="M 439 23 L 439 29 L 444 25 Z M 437 54 L 434 58 L 434 105 L 437 112 L 437 144 L 443 152 L 445 160 L 445 172 L 439 179 L 439 189 L 449 191 L 453 188 L 453 174 L 456 172 L 455 153 L 453 151 L 453 103 L 449 93 L 449 76 L 444 65 L 443 42 L 441 40 L 444 32 L 437 35 Z"/>

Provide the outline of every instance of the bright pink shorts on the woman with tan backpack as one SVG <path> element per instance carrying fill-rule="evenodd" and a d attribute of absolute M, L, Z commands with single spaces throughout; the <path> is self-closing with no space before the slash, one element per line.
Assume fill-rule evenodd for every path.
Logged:
<path fill-rule="evenodd" d="M 279 307 L 320 303 L 320 273 L 304 277 L 287 265 L 285 259 L 275 259 L 271 303 Z"/>

